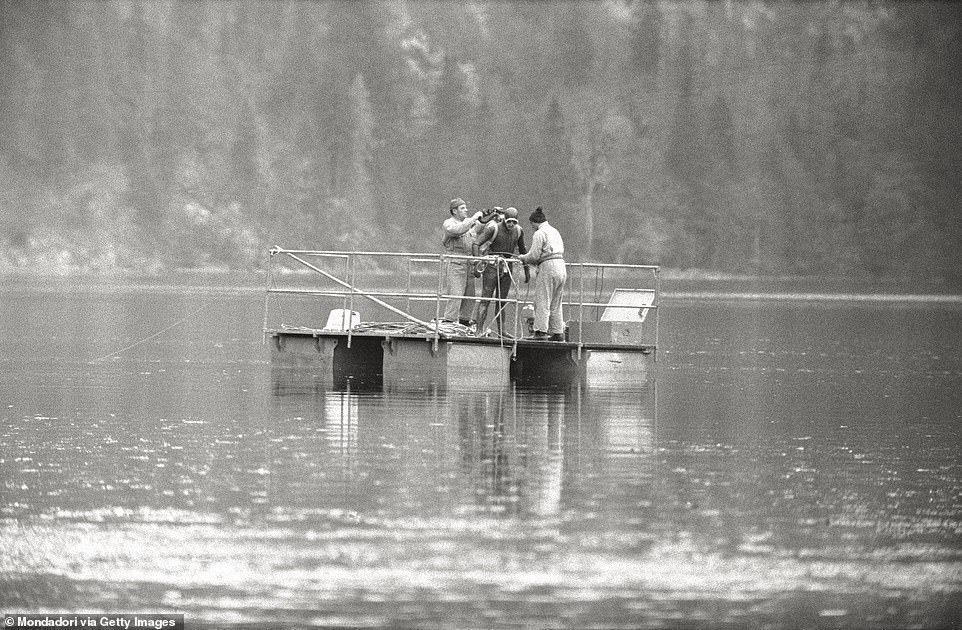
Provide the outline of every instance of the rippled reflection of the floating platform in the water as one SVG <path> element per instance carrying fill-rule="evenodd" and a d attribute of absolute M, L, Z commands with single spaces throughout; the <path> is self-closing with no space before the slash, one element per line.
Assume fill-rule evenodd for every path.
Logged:
<path fill-rule="evenodd" d="M 356 492 L 355 483 L 369 483 L 373 468 L 390 470 L 392 478 L 410 475 L 407 482 L 422 489 L 413 493 L 416 500 L 433 508 L 544 518 L 542 524 L 553 527 L 552 519 L 585 486 L 620 489 L 655 472 L 654 383 L 608 390 L 575 383 L 416 395 L 287 393 L 271 401 L 276 426 L 286 427 L 284 435 L 293 432 L 283 447 L 288 469 L 275 476 L 289 481 L 273 489 L 295 501 L 330 492 L 329 484 Z M 385 449 L 391 462 L 379 461 Z M 297 456 L 318 452 L 325 456 Z"/>

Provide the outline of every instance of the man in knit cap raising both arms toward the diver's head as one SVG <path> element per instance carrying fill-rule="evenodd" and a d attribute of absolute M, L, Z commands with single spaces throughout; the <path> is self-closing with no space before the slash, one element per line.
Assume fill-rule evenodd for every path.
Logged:
<path fill-rule="evenodd" d="M 460 197 L 451 200 L 449 211 L 451 216 L 441 224 L 441 230 L 444 233 L 442 238 L 444 252 L 456 256 L 470 256 L 471 245 L 474 244 L 472 228 L 477 225 L 482 213 L 478 211 L 468 216 L 468 206 Z M 476 294 L 474 274 L 470 273 L 468 263 L 466 258 L 444 259 L 444 293 L 455 297 L 448 298 L 443 319 L 457 321 L 465 326 L 470 326 L 472 323 L 471 311 L 474 309 L 474 300 L 463 300 L 461 296 L 473 298 Z"/>

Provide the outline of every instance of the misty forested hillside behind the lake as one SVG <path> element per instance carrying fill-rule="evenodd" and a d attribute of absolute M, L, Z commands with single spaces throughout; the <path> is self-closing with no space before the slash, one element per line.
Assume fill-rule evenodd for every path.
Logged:
<path fill-rule="evenodd" d="M 0 0 L 0 270 L 438 251 L 962 286 L 962 5 Z M 523 224 L 526 224 L 523 223 Z"/>

